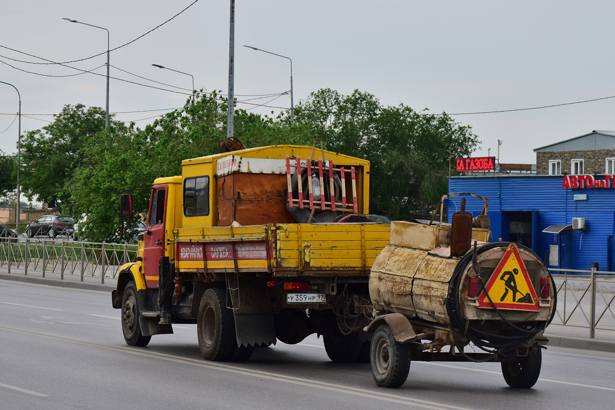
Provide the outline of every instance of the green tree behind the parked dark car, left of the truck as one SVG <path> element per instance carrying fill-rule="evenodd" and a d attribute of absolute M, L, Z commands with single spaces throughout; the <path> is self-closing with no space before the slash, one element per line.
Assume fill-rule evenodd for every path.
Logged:
<path fill-rule="evenodd" d="M 122 123 L 111 124 L 120 126 Z M 85 108 L 83 104 L 66 105 L 54 122 L 40 130 L 26 132 L 22 138 L 22 173 L 20 183 L 26 197 L 69 208 L 65 181 L 81 165 L 79 152 L 85 138 L 105 129 L 105 110 Z"/>

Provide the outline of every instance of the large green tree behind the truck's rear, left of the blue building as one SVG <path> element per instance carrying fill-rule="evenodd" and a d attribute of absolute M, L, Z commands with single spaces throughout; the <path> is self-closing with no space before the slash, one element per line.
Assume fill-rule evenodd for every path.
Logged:
<path fill-rule="evenodd" d="M 383 107 L 370 93 L 312 92 L 297 122 L 327 148 L 371 162 L 370 211 L 391 219 L 426 216 L 446 193 L 449 152 L 469 156 L 478 138 L 468 125 L 410 107 Z"/>

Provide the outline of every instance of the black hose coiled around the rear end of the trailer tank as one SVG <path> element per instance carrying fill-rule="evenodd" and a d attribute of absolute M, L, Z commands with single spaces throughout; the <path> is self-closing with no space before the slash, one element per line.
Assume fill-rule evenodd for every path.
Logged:
<path fill-rule="evenodd" d="M 468 339 L 470 339 L 470 342 L 476 345 L 479 349 L 485 350 L 485 352 L 489 353 L 507 353 L 511 350 L 514 350 L 518 345 L 530 341 L 534 336 L 536 336 L 536 334 L 543 331 L 549 325 L 549 323 L 551 323 L 555 316 L 555 309 L 557 308 L 557 292 L 555 291 L 555 288 L 553 292 L 553 312 L 551 313 L 551 317 L 547 322 L 539 322 L 533 325 L 523 323 L 515 324 L 507 320 L 507 318 L 502 315 L 499 309 L 497 307 L 494 307 L 496 312 L 498 312 L 499 316 L 502 318 L 502 321 L 504 321 L 504 323 L 509 326 L 509 329 L 506 329 L 506 331 L 504 332 L 505 334 L 494 334 L 477 329 L 474 326 L 470 325 L 469 321 L 466 321 L 464 320 L 464 318 L 461 317 L 461 307 L 459 306 L 459 287 L 461 286 L 461 277 L 464 270 L 466 269 L 467 264 L 471 263 L 473 269 L 477 274 L 478 283 L 480 283 L 480 290 L 478 291 L 478 294 L 480 294 L 483 290 L 485 290 L 485 283 L 483 283 L 483 280 L 480 278 L 480 276 L 478 276 L 478 272 L 476 271 L 476 259 L 478 251 L 480 251 L 480 253 L 483 253 L 493 248 L 507 248 L 509 244 L 509 242 L 488 243 L 487 245 L 480 246 L 480 248 L 478 248 L 477 250 L 475 242 L 474 250 L 466 253 L 455 267 L 453 277 L 451 278 L 451 282 L 448 288 L 446 310 L 448 311 L 448 317 L 451 320 L 451 325 L 453 325 L 454 328 L 464 331 L 464 334 L 467 336 Z M 538 261 L 541 260 L 538 255 L 527 246 L 517 245 L 517 248 L 522 248 L 529 253 L 534 254 Z M 543 267 L 549 275 L 552 286 L 555 286 L 553 277 L 551 276 L 549 270 L 546 268 L 546 266 Z M 486 290 L 485 293 L 489 301 L 491 302 L 491 296 L 486 292 Z"/>

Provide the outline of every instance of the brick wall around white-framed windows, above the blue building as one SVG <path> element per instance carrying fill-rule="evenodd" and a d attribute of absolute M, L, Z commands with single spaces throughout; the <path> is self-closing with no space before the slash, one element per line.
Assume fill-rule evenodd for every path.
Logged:
<path fill-rule="evenodd" d="M 570 164 L 573 159 L 584 160 L 584 174 L 605 173 L 605 161 L 615 157 L 615 149 L 597 149 L 593 151 L 557 151 L 536 152 L 536 173 L 549 175 L 549 160 L 561 161 L 561 173 L 570 173 Z"/>

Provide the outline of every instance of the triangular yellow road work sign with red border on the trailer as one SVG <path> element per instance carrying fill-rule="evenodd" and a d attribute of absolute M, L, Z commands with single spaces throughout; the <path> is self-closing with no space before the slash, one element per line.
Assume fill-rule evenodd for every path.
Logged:
<path fill-rule="evenodd" d="M 514 243 L 511 243 L 498 266 L 493 271 L 485 290 L 478 296 L 478 307 L 515 310 L 540 310 L 536 291 L 525 269 L 523 259 Z"/>

